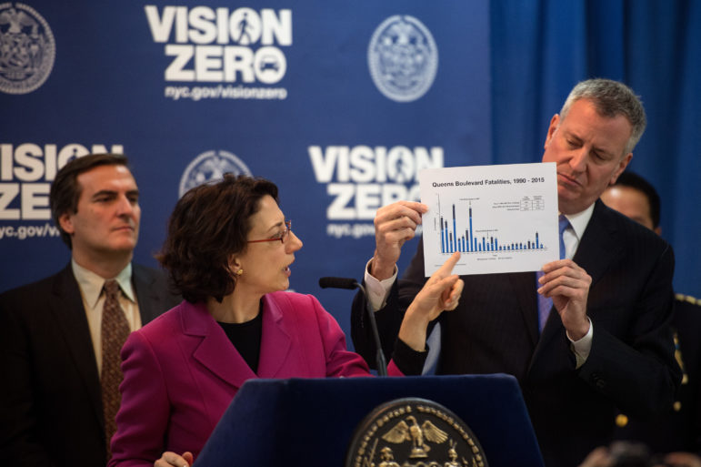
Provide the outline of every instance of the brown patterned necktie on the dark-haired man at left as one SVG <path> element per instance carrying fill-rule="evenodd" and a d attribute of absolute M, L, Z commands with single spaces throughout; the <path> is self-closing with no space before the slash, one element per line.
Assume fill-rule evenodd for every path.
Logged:
<path fill-rule="evenodd" d="M 116 412 L 119 410 L 119 383 L 122 382 L 119 352 L 129 335 L 129 323 L 119 305 L 119 284 L 116 280 L 105 281 L 105 305 L 102 311 L 102 406 L 105 414 L 105 437 L 107 459 L 110 457 L 110 440 L 116 431 Z"/>

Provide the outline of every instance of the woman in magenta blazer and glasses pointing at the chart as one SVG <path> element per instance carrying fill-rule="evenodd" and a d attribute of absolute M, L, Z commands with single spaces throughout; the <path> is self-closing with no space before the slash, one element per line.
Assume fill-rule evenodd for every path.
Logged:
<path fill-rule="evenodd" d="M 226 175 L 178 201 L 159 260 L 185 300 L 122 349 L 111 467 L 188 467 L 251 378 L 370 374 L 318 300 L 283 291 L 301 248 L 267 180 Z M 428 321 L 460 296 L 462 281 L 450 275 L 458 258 L 406 311 L 388 374 L 420 373 Z"/>

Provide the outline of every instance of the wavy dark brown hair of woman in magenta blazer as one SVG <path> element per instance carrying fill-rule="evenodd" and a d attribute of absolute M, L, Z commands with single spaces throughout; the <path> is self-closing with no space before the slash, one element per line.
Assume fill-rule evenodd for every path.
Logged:
<path fill-rule="evenodd" d="M 190 189 L 175 205 L 156 259 L 168 269 L 174 289 L 189 302 L 221 301 L 235 289 L 232 255 L 245 251 L 251 217 L 260 200 L 277 202 L 277 187 L 264 178 L 225 174 Z"/>

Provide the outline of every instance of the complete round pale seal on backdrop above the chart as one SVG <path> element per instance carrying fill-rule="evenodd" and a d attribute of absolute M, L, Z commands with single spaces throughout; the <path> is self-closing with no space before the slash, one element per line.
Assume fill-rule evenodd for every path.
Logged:
<path fill-rule="evenodd" d="M 426 94 L 438 69 L 438 49 L 430 31 L 414 16 L 395 15 L 377 26 L 367 48 L 375 86 L 397 102 Z"/>

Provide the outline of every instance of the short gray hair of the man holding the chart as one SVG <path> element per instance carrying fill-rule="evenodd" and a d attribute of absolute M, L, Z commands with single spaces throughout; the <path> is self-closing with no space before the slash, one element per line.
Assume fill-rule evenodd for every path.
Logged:
<path fill-rule="evenodd" d="M 581 81 L 567 96 L 560 110 L 560 121 L 565 120 L 570 107 L 579 99 L 591 101 L 596 112 L 602 117 L 613 118 L 619 115 L 626 117 L 632 128 L 624 155 L 633 151 L 647 125 L 643 103 L 633 89 L 611 79 L 596 78 Z"/>

